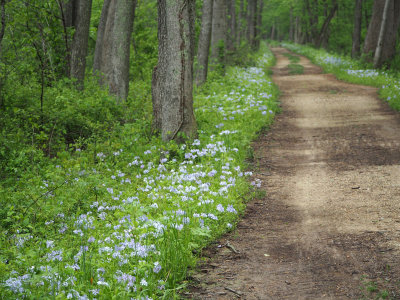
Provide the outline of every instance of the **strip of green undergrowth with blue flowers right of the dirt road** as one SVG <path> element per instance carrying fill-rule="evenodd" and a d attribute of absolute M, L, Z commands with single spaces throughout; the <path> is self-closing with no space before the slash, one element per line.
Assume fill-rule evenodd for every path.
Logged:
<path fill-rule="evenodd" d="M 371 65 L 348 56 L 340 56 L 310 46 L 283 43 L 285 48 L 308 57 L 325 72 L 333 73 L 338 79 L 351 83 L 379 88 L 379 95 L 389 105 L 400 111 L 400 75 L 395 72 L 373 69 Z"/>

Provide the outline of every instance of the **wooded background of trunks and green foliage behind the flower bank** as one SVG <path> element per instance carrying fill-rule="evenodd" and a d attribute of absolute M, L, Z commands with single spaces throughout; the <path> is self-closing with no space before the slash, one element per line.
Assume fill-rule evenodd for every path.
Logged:
<path fill-rule="evenodd" d="M 193 82 L 261 40 L 400 67 L 395 0 L 0 0 L 0 20 L 2 179 L 115 124 L 194 137 Z"/>

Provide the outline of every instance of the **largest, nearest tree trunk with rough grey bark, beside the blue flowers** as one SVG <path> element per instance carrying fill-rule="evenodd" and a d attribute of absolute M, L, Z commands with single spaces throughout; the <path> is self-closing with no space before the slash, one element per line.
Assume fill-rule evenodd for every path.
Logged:
<path fill-rule="evenodd" d="M 168 2 L 168 5 L 167 5 Z M 158 0 L 158 65 L 153 74 L 153 109 L 164 141 L 193 138 L 194 0 Z M 161 117 L 160 117 L 161 116 Z"/>

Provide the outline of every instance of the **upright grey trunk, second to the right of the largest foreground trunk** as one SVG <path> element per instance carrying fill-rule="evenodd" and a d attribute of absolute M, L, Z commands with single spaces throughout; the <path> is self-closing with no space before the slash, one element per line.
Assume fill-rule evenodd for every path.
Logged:
<path fill-rule="evenodd" d="M 225 62 L 226 26 L 226 1 L 214 0 L 211 32 L 211 62 L 213 65 Z"/>

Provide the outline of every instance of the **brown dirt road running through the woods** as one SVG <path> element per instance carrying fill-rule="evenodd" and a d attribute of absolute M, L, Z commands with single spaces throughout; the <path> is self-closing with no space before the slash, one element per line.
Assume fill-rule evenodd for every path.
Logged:
<path fill-rule="evenodd" d="M 399 115 L 305 58 L 288 76 L 273 51 L 283 112 L 254 143 L 266 196 L 205 251 L 186 297 L 400 299 Z"/>

